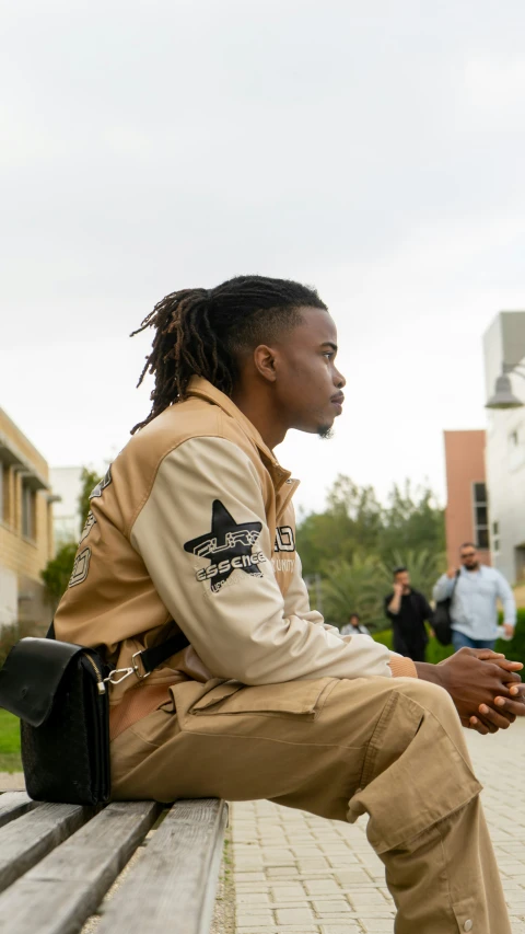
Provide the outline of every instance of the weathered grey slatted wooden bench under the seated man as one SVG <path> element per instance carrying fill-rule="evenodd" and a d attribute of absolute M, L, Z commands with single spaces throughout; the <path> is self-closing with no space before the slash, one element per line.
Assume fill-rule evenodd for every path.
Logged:
<path fill-rule="evenodd" d="M 0 932 L 78 934 L 137 853 L 103 906 L 96 934 L 207 934 L 226 820 L 228 806 L 214 798 L 94 809 L 7 792 Z"/>

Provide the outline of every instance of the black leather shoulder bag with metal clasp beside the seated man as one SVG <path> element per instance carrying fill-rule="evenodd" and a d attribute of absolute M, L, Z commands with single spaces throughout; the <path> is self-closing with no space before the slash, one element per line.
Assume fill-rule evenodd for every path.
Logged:
<path fill-rule="evenodd" d="M 131 668 L 110 668 L 94 648 L 23 638 L 0 670 L 0 707 L 20 717 L 27 794 L 37 802 L 96 805 L 109 799 L 109 699 L 106 685 L 147 678 L 189 645 L 183 633 L 138 652 Z M 140 662 L 140 664 L 139 664 Z"/>

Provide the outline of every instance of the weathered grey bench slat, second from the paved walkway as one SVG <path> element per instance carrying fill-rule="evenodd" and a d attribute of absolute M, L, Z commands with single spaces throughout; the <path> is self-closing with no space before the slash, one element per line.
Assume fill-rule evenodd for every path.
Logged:
<path fill-rule="evenodd" d="M 77 934 L 161 807 L 154 802 L 108 805 L 0 896 L 0 932 Z"/>

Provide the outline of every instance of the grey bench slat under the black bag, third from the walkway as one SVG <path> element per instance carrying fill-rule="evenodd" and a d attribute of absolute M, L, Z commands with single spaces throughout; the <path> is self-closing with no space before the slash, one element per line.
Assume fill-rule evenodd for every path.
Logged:
<path fill-rule="evenodd" d="M 74 833 L 93 814 L 80 805 L 39 804 L 0 830 L 0 891 Z"/>

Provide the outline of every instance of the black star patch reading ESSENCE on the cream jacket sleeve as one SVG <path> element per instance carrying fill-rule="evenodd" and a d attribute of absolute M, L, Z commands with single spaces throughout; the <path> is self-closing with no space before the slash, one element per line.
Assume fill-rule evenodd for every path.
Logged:
<path fill-rule="evenodd" d="M 197 572 L 197 580 L 210 580 L 213 593 L 226 583 L 234 570 L 244 570 L 262 577 L 258 565 L 266 561 L 262 552 L 253 552 L 262 529 L 262 522 L 235 522 L 220 499 L 213 500 L 211 529 L 197 539 L 186 542 L 184 550 L 210 564 Z"/>

